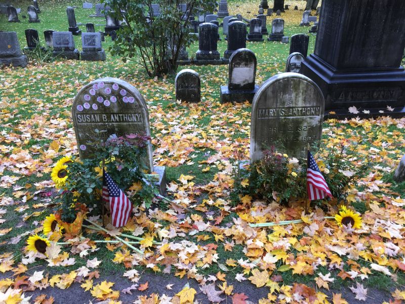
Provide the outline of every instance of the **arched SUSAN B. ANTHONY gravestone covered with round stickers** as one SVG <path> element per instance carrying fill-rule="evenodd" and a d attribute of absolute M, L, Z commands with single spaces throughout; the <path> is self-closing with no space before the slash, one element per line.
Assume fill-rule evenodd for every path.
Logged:
<path fill-rule="evenodd" d="M 72 119 L 80 158 L 90 157 L 93 146 L 112 134 L 150 136 L 145 100 L 134 86 L 117 78 L 101 78 L 84 86 L 74 98 Z M 145 165 L 153 171 L 150 144 Z"/>

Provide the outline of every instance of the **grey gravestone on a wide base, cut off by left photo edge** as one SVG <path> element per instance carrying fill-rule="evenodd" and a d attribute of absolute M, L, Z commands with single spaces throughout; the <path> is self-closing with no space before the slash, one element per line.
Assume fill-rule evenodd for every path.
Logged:
<path fill-rule="evenodd" d="M 21 55 L 16 32 L 0 32 L 0 66 L 13 65 L 25 67 L 28 58 Z"/>

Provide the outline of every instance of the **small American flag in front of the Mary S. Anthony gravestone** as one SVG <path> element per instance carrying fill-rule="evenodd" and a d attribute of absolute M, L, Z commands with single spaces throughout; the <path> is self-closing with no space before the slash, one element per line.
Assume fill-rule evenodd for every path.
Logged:
<path fill-rule="evenodd" d="M 307 192 L 309 200 L 321 200 L 326 196 L 332 197 L 328 184 L 325 178 L 323 178 L 322 173 L 320 173 L 319 167 L 309 150 L 307 165 Z"/>

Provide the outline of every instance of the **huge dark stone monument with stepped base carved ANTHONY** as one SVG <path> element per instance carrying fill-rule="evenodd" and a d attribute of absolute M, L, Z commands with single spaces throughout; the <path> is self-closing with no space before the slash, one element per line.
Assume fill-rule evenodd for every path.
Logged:
<path fill-rule="evenodd" d="M 330 117 L 405 116 L 404 15 L 402 0 L 322 2 L 314 54 L 301 73 L 322 90 Z"/>

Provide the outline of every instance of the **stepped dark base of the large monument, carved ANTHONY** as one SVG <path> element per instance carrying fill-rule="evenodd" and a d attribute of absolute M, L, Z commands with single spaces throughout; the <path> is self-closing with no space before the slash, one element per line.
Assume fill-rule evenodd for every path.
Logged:
<path fill-rule="evenodd" d="M 315 54 L 302 63 L 300 73 L 313 80 L 325 96 L 325 112 L 347 110 L 351 106 L 370 111 L 379 108 L 386 115 L 405 116 L 405 69 L 359 68 L 337 70 Z M 395 108 L 387 111 L 387 107 Z M 382 113 L 381 113 L 382 114 Z M 371 115 L 370 115 L 371 116 Z M 344 115 L 340 117 L 349 117 Z"/>

